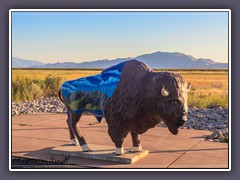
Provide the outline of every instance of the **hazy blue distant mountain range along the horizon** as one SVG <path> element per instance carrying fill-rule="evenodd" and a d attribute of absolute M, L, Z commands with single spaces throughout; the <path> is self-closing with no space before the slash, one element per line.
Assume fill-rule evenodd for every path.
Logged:
<path fill-rule="evenodd" d="M 227 69 L 228 63 L 218 63 L 211 59 L 196 59 L 178 52 L 154 52 L 134 58 L 118 58 L 113 60 L 96 60 L 91 62 L 63 62 L 47 63 L 40 61 L 12 58 L 13 68 L 107 68 L 123 61 L 136 59 L 146 63 L 151 68 L 163 69 Z"/>

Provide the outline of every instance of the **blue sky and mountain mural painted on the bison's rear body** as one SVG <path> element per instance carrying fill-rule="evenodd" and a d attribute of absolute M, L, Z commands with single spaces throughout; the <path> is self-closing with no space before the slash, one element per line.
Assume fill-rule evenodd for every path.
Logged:
<path fill-rule="evenodd" d="M 74 113 L 91 112 L 101 121 L 105 105 L 120 81 L 124 64 L 111 66 L 94 76 L 64 82 L 61 86 L 63 99 Z"/>

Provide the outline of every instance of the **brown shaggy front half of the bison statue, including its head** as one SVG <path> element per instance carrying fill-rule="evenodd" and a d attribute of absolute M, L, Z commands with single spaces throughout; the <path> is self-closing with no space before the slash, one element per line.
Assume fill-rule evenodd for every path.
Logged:
<path fill-rule="evenodd" d="M 161 94 L 163 86 L 169 92 L 167 97 Z M 126 62 L 104 112 L 108 133 L 116 147 L 123 147 L 129 132 L 135 136 L 142 134 L 161 121 L 172 134 L 177 134 L 186 121 L 189 88 L 190 84 L 178 74 L 154 72 L 136 60 Z"/>

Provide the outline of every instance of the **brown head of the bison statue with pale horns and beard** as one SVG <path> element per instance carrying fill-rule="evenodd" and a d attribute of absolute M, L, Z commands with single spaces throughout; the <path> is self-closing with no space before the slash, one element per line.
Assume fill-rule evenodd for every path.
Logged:
<path fill-rule="evenodd" d="M 180 126 L 187 121 L 190 83 L 179 74 L 167 72 L 155 75 L 154 81 L 155 92 L 157 91 L 156 116 L 167 125 L 172 134 L 177 135 Z"/>

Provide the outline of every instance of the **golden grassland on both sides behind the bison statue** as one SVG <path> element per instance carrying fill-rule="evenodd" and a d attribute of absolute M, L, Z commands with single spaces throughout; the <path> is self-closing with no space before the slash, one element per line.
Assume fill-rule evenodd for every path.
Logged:
<path fill-rule="evenodd" d="M 21 101 L 56 95 L 63 81 L 98 74 L 101 71 L 101 69 L 13 69 L 12 99 Z M 191 83 L 188 95 L 190 107 L 228 107 L 227 70 L 169 71 L 181 74 Z"/>

